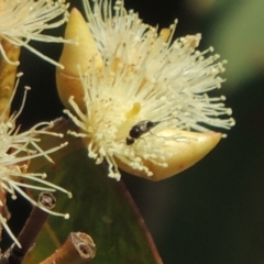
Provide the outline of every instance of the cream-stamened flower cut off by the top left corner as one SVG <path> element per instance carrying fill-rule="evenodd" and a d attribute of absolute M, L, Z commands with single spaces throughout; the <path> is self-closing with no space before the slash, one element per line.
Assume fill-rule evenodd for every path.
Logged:
<path fill-rule="evenodd" d="M 36 51 L 29 42 L 65 42 L 63 37 L 46 35 L 42 31 L 64 24 L 68 19 L 67 8 L 64 0 L 0 0 L 0 40 L 24 46 L 43 59 L 63 67 Z M 2 44 L 0 53 L 8 63 L 19 65 L 18 61 L 13 62 L 7 56 Z"/>

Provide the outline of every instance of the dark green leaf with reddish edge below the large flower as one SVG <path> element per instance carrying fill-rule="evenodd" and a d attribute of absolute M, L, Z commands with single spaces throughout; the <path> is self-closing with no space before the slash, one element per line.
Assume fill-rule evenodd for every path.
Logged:
<path fill-rule="evenodd" d="M 72 128 L 70 128 L 72 127 Z M 56 122 L 55 130 L 65 132 L 73 124 L 63 120 Z M 58 144 L 58 139 L 43 136 L 45 150 Z M 81 141 L 67 136 L 67 147 L 55 153 L 54 166 L 45 160 L 32 162 L 31 169 L 45 170 L 47 180 L 70 190 L 73 199 L 64 194 L 55 194 L 56 210 L 69 212 L 70 219 L 50 217 L 51 229 L 45 230 L 37 239 L 36 246 L 24 263 L 35 263 L 47 257 L 46 245 L 55 251 L 56 240 L 63 243 L 69 232 L 86 232 L 97 244 L 97 256 L 92 263 L 162 263 L 155 245 L 144 222 L 122 182 L 107 176 L 107 167 L 95 165 L 88 158 Z M 45 249 L 45 252 L 44 252 Z M 50 250 L 50 249 L 48 249 Z M 52 254 L 50 251 L 48 254 Z"/>

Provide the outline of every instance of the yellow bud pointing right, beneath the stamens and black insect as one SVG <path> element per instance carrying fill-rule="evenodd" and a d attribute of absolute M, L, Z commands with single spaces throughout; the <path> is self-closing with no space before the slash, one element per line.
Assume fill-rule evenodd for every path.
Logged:
<path fill-rule="evenodd" d="M 177 130 L 164 130 L 158 133 L 158 136 L 173 136 L 179 134 L 191 139 L 190 141 L 166 141 L 164 151 L 168 154 L 166 157 L 167 167 L 162 167 L 153 164 L 150 161 L 144 161 L 144 165 L 153 173 L 147 176 L 145 172 L 131 168 L 128 164 L 122 163 L 117 158 L 118 166 L 127 173 L 143 177 L 150 180 L 162 180 L 169 178 L 186 168 L 195 165 L 205 157 L 221 140 L 221 133 L 195 133 Z"/>

